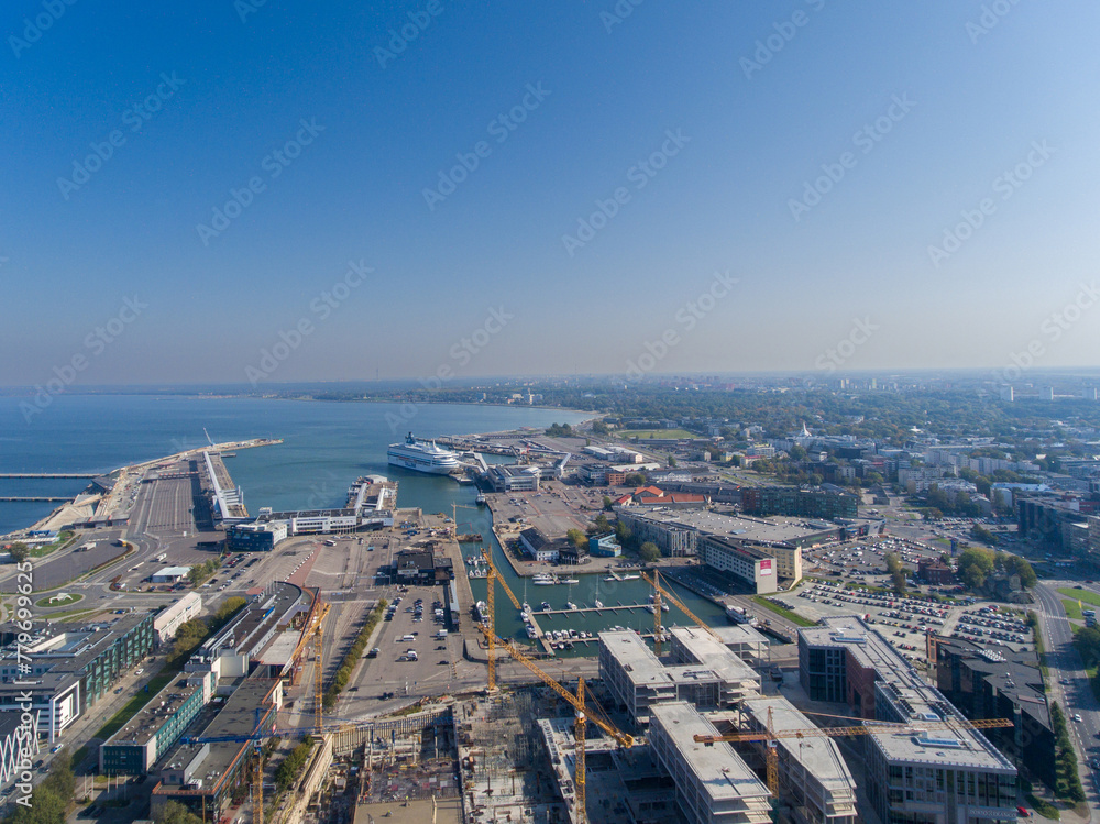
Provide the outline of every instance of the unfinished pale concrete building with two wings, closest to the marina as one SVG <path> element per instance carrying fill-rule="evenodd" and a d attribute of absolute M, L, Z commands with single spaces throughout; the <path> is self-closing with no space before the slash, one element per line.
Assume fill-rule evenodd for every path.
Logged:
<path fill-rule="evenodd" d="M 615 702 L 645 726 L 652 707 L 686 701 L 706 710 L 732 707 L 760 691 L 760 675 L 703 630 L 675 627 L 666 664 L 632 630 L 600 634 L 600 677 Z"/>

